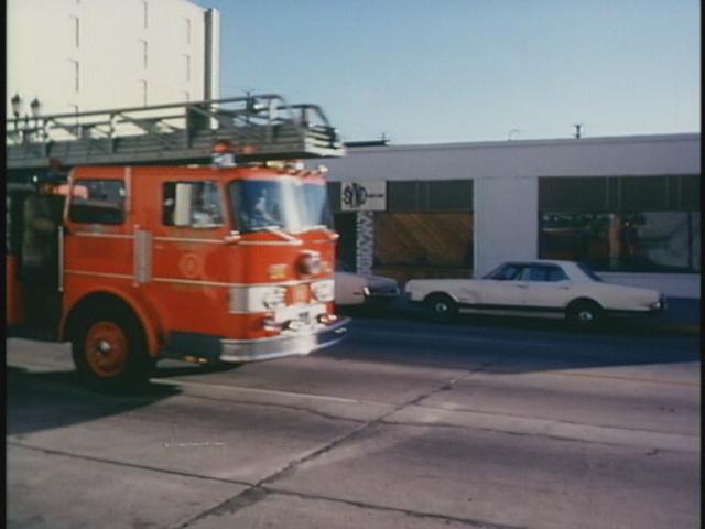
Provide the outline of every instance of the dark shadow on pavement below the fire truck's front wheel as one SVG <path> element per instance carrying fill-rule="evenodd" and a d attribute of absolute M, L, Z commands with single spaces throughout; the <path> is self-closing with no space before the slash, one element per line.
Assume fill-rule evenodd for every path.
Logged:
<path fill-rule="evenodd" d="M 150 406 L 181 393 L 149 384 L 129 392 L 99 393 L 80 385 L 75 371 L 30 373 L 7 368 L 7 434 L 68 427 Z"/>

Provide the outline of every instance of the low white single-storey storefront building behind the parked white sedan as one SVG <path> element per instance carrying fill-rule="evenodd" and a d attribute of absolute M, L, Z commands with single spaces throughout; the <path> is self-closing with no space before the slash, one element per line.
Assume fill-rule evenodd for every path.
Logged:
<path fill-rule="evenodd" d="M 479 277 L 566 258 L 699 298 L 699 134 L 368 147 L 326 165 L 340 257 L 358 271 Z"/>

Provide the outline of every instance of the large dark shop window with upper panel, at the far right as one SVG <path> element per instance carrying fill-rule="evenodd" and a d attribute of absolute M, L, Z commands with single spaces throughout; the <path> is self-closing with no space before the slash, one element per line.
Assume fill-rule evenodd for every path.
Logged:
<path fill-rule="evenodd" d="M 699 175 L 540 179 L 539 255 L 600 271 L 699 271 Z"/>

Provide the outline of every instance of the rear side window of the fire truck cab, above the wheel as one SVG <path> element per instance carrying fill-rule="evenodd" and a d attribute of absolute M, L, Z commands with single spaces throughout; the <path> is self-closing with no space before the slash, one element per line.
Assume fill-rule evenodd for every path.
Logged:
<path fill-rule="evenodd" d="M 124 183 L 121 180 L 80 180 L 80 193 L 74 193 L 68 218 L 74 223 L 122 224 L 124 222 Z"/>

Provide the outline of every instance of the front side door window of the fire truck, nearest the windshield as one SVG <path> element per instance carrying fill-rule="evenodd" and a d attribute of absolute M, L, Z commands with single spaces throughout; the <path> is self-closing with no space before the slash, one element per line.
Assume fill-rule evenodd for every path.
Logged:
<path fill-rule="evenodd" d="M 214 228 L 223 225 L 223 198 L 215 182 L 167 182 L 163 193 L 165 226 Z"/>

